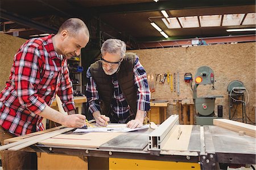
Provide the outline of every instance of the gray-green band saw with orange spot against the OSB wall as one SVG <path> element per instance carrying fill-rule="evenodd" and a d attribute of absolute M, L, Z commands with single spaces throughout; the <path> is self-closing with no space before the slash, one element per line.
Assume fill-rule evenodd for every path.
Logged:
<path fill-rule="evenodd" d="M 193 88 L 193 101 L 197 112 L 196 125 L 213 125 L 215 98 L 223 96 L 205 96 L 197 97 L 197 87 L 199 85 L 212 84 L 214 90 L 214 73 L 210 67 L 202 66 L 197 69 L 195 75 L 195 86 Z"/>

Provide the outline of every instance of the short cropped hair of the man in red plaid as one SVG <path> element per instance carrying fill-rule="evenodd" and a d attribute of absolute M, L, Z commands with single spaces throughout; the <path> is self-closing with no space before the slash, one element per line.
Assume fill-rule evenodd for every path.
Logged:
<path fill-rule="evenodd" d="M 76 34 L 78 31 L 84 29 L 85 34 L 89 37 L 89 30 L 86 24 L 79 18 L 69 18 L 63 24 L 61 24 L 57 34 L 60 34 L 63 30 L 68 30 L 71 34 Z"/>

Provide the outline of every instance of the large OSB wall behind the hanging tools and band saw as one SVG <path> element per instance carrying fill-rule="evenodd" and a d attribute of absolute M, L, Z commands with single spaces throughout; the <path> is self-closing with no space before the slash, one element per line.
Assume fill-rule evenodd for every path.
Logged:
<path fill-rule="evenodd" d="M 247 116 L 255 122 L 255 43 L 141 49 L 130 52 L 139 55 L 147 74 L 154 74 L 154 78 L 155 74 L 164 74 L 168 71 L 171 74 L 179 72 L 179 96 L 175 92 L 171 93 L 167 80 L 164 84 L 156 82 L 155 92 L 151 93 L 151 98 L 168 99 L 171 103 L 168 107 L 168 114 L 177 114 L 177 105 L 172 105 L 174 101 L 185 98 L 192 99 L 192 90 L 184 81 L 184 73 L 192 73 L 192 85 L 194 85 L 197 68 L 206 65 L 213 69 L 216 80 L 215 90 L 212 90 L 212 85 L 199 85 L 197 96 L 223 96 L 223 98 L 216 98 L 215 113 L 217 114 L 217 105 L 222 105 L 224 118 L 228 118 L 227 88 L 229 82 L 240 80 L 250 95 L 250 101 L 246 106 Z M 241 109 L 238 107 L 234 118 L 241 118 L 241 113 Z"/>

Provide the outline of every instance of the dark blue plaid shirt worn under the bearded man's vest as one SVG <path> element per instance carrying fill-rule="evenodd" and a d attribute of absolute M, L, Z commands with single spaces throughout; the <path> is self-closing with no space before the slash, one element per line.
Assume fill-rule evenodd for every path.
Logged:
<path fill-rule="evenodd" d="M 134 72 L 134 85 L 137 86 L 137 109 L 142 111 L 150 110 L 150 89 L 148 88 L 147 75 L 143 66 L 139 62 L 138 56 L 136 56 L 135 65 L 133 68 Z M 99 102 L 100 96 L 98 94 L 96 82 L 93 80 L 90 68 L 86 73 L 88 79 L 86 85 L 86 97 L 88 99 L 89 113 L 92 114 L 94 111 L 100 111 Z M 113 118 L 118 123 L 125 123 L 130 120 L 130 106 L 126 102 L 123 96 L 121 88 L 119 88 L 117 75 L 113 74 L 112 84 L 114 86 L 114 94 L 111 102 Z"/>

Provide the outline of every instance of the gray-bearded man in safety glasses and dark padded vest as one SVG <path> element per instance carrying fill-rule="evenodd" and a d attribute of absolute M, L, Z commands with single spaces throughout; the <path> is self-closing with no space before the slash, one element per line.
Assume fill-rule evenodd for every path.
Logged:
<path fill-rule="evenodd" d="M 106 40 L 101 60 L 90 65 L 86 73 L 89 114 L 100 126 L 110 121 L 141 127 L 150 109 L 146 71 L 135 53 L 125 52 L 126 44 L 121 40 Z"/>

